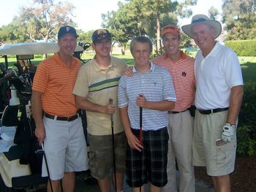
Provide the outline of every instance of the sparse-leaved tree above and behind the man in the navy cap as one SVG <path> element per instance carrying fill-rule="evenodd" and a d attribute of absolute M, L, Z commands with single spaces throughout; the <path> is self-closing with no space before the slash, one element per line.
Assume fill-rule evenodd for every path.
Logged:
<path fill-rule="evenodd" d="M 73 9 L 75 7 L 67 1 L 55 4 L 53 0 L 33 0 L 31 6 L 20 9 L 19 17 L 31 41 L 48 42 L 48 39 L 56 37 L 61 26 L 75 25 L 71 19 Z"/>

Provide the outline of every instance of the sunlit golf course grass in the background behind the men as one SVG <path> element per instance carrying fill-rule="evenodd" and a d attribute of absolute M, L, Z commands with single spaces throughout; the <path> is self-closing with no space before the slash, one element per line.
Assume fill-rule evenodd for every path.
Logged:
<path fill-rule="evenodd" d="M 195 56 L 195 53 L 189 53 L 191 56 Z M 50 56 L 50 55 L 48 55 Z M 123 59 L 127 65 L 133 65 L 134 59 L 130 53 L 126 55 L 113 54 L 113 56 Z M 89 60 L 94 57 L 93 53 L 83 53 L 83 60 Z M 34 55 L 34 59 L 31 60 L 32 64 L 39 64 L 42 61 L 42 55 Z M 241 64 L 241 69 L 243 72 L 244 82 L 253 81 L 256 82 L 256 57 L 238 57 L 238 60 Z M 0 58 L 0 62 L 4 63 L 4 58 Z M 15 56 L 10 56 L 8 58 L 10 68 L 13 67 L 13 64 L 16 62 Z"/>

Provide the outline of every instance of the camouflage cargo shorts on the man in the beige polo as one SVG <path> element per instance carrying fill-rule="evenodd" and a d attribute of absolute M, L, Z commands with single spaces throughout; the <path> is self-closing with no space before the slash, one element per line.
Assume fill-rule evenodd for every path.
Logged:
<path fill-rule="evenodd" d="M 91 175 L 103 180 L 113 172 L 113 142 L 112 135 L 95 136 L 88 134 L 90 152 L 89 168 Z M 127 139 L 124 131 L 114 135 L 116 172 L 124 173 L 126 170 Z"/>

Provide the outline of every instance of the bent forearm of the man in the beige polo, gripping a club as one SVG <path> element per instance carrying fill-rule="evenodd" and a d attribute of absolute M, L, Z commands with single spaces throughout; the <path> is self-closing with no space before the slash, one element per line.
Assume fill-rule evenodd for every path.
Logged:
<path fill-rule="evenodd" d="M 108 104 L 106 106 L 94 104 L 88 99 L 86 99 L 86 97 L 82 96 L 75 96 L 75 104 L 76 107 L 78 107 L 79 109 L 90 112 L 101 112 L 105 114 L 113 114 L 116 109 L 116 107 L 113 104 Z"/>

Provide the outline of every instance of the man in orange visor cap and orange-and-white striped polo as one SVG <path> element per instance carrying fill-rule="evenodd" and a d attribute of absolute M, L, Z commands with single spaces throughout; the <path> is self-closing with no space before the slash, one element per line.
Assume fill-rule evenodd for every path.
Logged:
<path fill-rule="evenodd" d="M 164 191 L 177 191 L 176 161 L 179 170 L 179 191 L 194 192 L 195 176 L 192 166 L 192 133 L 194 118 L 189 108 L 195 99 L 194 58 L 181 50 L 181 34 L 177 26 L 167 25 L 162 28 L 163 55 L 152 62 L 167 69 L 173 77 L 176 92 L 176 104 L 169 111 L 169 150 L 167 162 L 168 183 Z"/>

